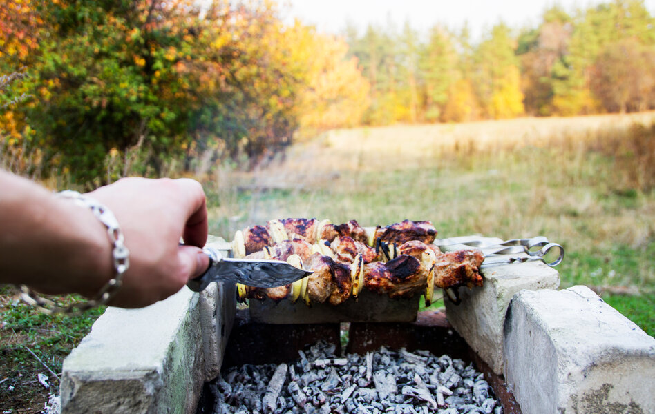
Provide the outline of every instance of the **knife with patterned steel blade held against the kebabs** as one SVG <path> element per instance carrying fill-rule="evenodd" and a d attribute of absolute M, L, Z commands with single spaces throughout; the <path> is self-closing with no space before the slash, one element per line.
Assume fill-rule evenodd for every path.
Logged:
<path fill-rule="evenodd" d="M 189 280 L 187 286 L 194 292 L 207 288 L 211 282 L 235 282 L 256 288 L 276 288 L 311 275 L 282 260 L 234 259 L 224 257 L 216 246 L 207 245 L 202 251 L 209 256 L 205 273 Z"/>

